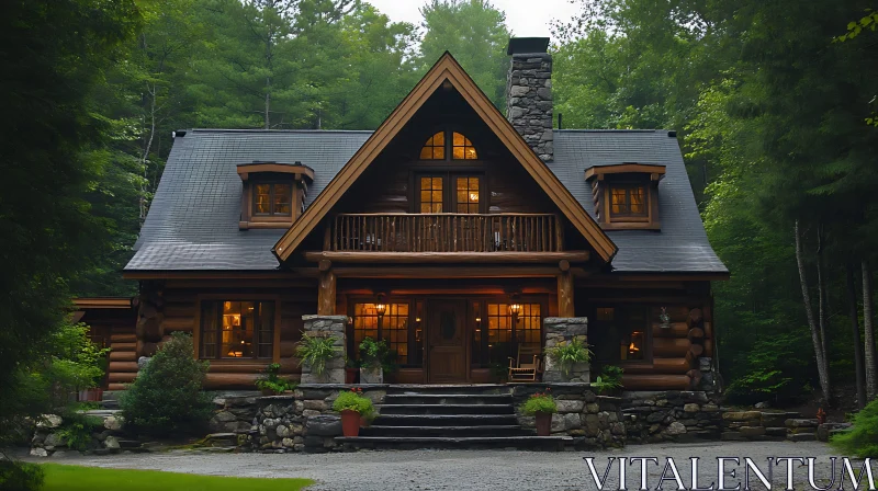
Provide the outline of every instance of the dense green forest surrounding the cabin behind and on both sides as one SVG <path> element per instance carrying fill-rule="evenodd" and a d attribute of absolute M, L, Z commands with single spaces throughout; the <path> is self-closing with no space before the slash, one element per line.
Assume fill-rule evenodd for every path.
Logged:
<path fill-rule="evenodd" d="M 582 13 L 552 26 L 555 113 L 565 128 L 677 130 L 732 272 L 713 289 L 730 398 L 873 398 L 874 2 L 573 1 Z M 0 9 L 4 391 L 71 296 L 136 293 L 120 272 L 173 130 L 374 129 L 447 49 L 504 111 L 514 34 L 487 0 L 432 0 L 420 25 L 359 0 Z"/>

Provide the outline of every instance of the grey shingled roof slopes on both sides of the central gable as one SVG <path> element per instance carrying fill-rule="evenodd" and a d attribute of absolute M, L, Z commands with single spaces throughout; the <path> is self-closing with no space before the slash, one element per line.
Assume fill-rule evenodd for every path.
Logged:
<path fill-rule="evenodd" d="M 254 160 L 314 169 L 311 205 L 371 132 L 194 129 L 173 141 L 134 258 L 125 271 L 273 270 L 271 248 L 283 230 L 239 230 L 240 179 L 236 165 Z M 627 162 L 666 165 L 658 184 L 661 231 L 607 235 L 619 247 L 619 272 L 725 273 L 707 240 L 676 138 L 664 130 L 559 130 L 561 182 L 594 214 L 585 170 Z"/>

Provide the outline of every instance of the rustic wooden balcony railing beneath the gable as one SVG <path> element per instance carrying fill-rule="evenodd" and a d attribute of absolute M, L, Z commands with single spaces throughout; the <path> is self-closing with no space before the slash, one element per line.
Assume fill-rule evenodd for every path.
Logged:
<path fill-rule="evenodd" d="M 333 251 L 552 252 L 562 228 L 551 214 L 342 214 L 333 224 Z"/>

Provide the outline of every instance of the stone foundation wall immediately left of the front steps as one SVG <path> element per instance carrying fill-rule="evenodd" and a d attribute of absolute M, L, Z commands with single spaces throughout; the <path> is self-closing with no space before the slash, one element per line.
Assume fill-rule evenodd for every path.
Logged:
<path fill-rule="evenodd" d="M 344 374 L 344 370 L 342 370 Z M 340 450 L 335 437 L 341 436 L 341 416 L 333 411 L 333 402 L 344 384 L 303 384 L 290 396 L 257 399 L 258 411 L 250 432 L 249 447 L 262 453 Z M 386 386 L 358 386 L 380 410 Z"/>

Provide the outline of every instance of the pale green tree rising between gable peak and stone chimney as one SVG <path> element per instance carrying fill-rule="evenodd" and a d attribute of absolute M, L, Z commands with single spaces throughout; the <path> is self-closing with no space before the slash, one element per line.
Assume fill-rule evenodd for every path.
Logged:
<path fill-rule="evenodd" d="M 488 0 L 432 0 L 420 8 L 423 69 L 450 52 L 500 111 L 506 107 L 506 14 Z"/>

